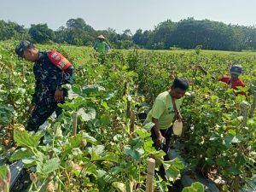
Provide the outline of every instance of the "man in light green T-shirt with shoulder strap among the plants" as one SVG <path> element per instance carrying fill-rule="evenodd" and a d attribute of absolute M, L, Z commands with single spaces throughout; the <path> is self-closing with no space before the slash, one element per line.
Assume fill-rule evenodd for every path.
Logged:
<path fill-rule="evenodd" d="M 156 97 L 154 105 L 143 123 L 143 125 L 150 121 L 154 123 L 154 127 L 151 130 L 151 137 L 154 141 L 155 148 L 160 148 L 160 145 L 163 144 L 161 149 L 166 153 L 164 157 L 165 160 L 169 160 L 167 152 L 171 143 L 172 123 L 175 119 L 179 121 L 183 119 L 182 115 L 179 113 L 179 108 L 182 104 L 182 97 L 188 89 L 189 82 L 187 79 L 175 78 L 171 89 L 160 93 L 160 95 Z M 173 107 L 173 102 L 175 102 L 177 113 Z M 162 178 L 164 178 L 164 172 L 163 167 L 162 169 L 160 167 L 160 176 Z"/>

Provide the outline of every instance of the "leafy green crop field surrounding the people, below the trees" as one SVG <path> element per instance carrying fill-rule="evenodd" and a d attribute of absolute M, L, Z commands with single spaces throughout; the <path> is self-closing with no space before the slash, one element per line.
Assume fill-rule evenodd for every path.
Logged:
<path fill-rule="evenodd" d="M 163 160 L 164 153 L 152 147 L 153 125 L 142 126 L 142 117 L 179 76 L 189 79 L 190 86 L 181 111 L 183 137 L 174 141 L 182 143 L 191 174 L 201 172 L 220 191 L 256 186 L 256 116 L 241 108 L 241 103 L 253 104 L 256 53 L 131 49 L 98 55 L 87 47 L 38 44 L 65 55 L 76 75 L 73 86 L 67 85 L 61 117 L 29 133 L 24 125 L 34 91 L 32 63 L 17 60 L 15 44 L 0 42 L 0 177 L 7 174 L 6 165 L 22 159 L 30 172 L 27 191 L 146 191 L 148 159 L 153 157 L 156 166 L 164 163 L 169 181 L 177 180 L 183 163 Z M 209 75 L 196 70 L 198 64 Z M 241 79 L 247 87 L 240 90 L 247 96 L 235 96 L 234 90 L 211 79 L 229 75 L 234 64 L 244 69 Z M 167 190 L 165 181 L 160 184 Z M 160 191 L 158 183 L 154 188 Z M 196 184 L 183 191 L 193 189 L 203 191 Z"/>

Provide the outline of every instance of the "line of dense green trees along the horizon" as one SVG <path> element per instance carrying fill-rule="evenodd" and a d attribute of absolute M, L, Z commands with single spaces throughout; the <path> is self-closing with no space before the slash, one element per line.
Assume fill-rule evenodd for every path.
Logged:
<path fill-rule="evenodd" d="M 92 45 L 100 34 L 115 49 L 195 49 L 197 46 L 218 50 L 256 49 L 254 26 L 227 25 L 212 20 L 165 20 L 154 26 L 154 30 L 138 29 L 134 34 L 129 29 L 120 34 L 112 28 L 95 30 L 82 18 L 67 20 L 66 26 L 56 31 L 46 23 L 26 28 L 12 21 L 0 20 L 0 40 L 29 39 L 38 44 Z"/>

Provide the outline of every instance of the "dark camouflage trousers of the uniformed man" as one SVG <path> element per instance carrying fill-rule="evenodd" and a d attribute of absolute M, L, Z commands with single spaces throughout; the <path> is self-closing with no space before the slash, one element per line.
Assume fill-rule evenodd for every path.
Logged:
<path fill-rule="evenodd" d="M 63 102 L 61 102 L 63 103 Z M 52 113 L 56 113 L 57 117 L 61 114 L 62 110 L 57 106 L 55 101 L 40 102 L 35 105 L 30 118 L 27 121 L 26 130 L 27 131 L 38 131 L 40 125 L 49 118 Z"/>

